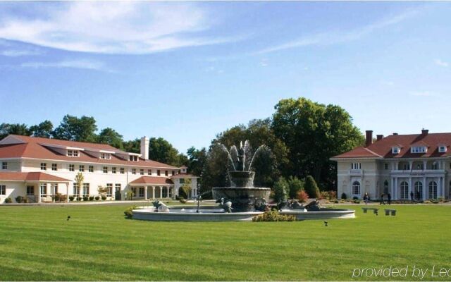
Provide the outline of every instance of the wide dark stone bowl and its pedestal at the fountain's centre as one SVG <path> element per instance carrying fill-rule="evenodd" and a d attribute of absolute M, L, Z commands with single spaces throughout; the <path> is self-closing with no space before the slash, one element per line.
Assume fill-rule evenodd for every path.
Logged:
<path fill-rule="evenodd" d="M 270 188 L 260 187 L 214 187 L 213 197 L 216 200 L 230 200 L 234 212 L 254 212 L 257 201 L 269 200 Z"/>

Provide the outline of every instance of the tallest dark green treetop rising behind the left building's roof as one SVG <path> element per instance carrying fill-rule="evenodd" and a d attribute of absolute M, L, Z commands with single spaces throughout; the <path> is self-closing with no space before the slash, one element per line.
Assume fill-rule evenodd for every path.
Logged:
<path fill-rule="evenodd" d="M 76 116 L 66 115 L 63 117 L 60 125 L 53 131 L 52 135 L 56 139 L 95 142 L 97 131 L 96 120 L 92 116 Z"/>

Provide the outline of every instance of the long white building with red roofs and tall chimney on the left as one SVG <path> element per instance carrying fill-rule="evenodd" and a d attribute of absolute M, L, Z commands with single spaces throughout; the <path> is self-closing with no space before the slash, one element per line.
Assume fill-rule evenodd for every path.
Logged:
<path fill-rule="evenodd" d="M 82 173 L 82 187 L 75 176 Z M 105 144 L 8 135 L 0 140 L 0 203 L 18 196 L 28 202 L 52 202 L 54 195 L 99 196 L 107 200 L 175 198 L 190 183 L 197 194 L 197 177 L 181 168 L 149 159 L 149 139 L 142 137 L 141 154 Z M 132 192 L 132 193 L 129 193 Z"/>

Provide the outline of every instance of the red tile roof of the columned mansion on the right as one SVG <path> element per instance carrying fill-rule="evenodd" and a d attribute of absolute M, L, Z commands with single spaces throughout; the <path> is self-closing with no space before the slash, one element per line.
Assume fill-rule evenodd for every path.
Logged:
<path fill-rule="evenodd" d="M 438 146 L 447 146 L 447 152 L 438 152 Z M 392 154 L 392 147 L 401 147 L 399 154 Z M 426 146 L 426 153 L 411 153 L 410 147 Z M 383 158 L 418 158 L 418 157 L 450 157 L 451 133 L 429 133 L 411 135 L 389 135 L 376 141 L 368 147 L 357 147 L 332 159 L 383 157 Z"/>

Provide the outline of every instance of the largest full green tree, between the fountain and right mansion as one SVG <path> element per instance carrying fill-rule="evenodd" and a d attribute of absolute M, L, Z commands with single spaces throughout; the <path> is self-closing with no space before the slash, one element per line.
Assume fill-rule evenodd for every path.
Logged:
<path fill-rule="evenodd" d="M 275 106 L 272 128 L 288 151 L 285 176 L 314 176 L 330 190 L 336 169 L 330 157 L 362 144 L 364 137 L 340 106 L 324 105 L 306 98 L 283 99 Z"/>

